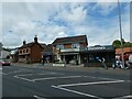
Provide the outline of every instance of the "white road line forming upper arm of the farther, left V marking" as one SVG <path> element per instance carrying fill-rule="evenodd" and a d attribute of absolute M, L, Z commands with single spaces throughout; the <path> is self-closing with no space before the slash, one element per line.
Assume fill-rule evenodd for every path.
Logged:
<path fill-rule="evenodd" d="M 81 77 L 81 76 L 48 77 L 48 78 L 37 78 L 33 80 L 36 81 L 36 80 L 48 80 L 48 79 L 66 79 L 66 78 L 77 78 L 77 77 Z"/>

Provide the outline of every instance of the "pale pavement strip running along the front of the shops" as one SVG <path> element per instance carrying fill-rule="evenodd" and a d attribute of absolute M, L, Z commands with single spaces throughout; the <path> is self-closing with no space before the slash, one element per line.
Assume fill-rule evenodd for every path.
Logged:
<path fill-rule="evenodd" d="M 37 68 L 47 68 L 47 69 L 59 69 L 59 70 L 82 70 L 82 72 L 102 72 L 102 73 L 109 73 L 109 74 L 123 74 L 130 76 L 130 73 L 132 69 L 121 69 L 121 68 L 116 68 L 113 69 L 112 67 L 109 67 L 108 69 L 105 69 L 103 67 L 84 67 L 84 65 L 66 65 L 64 66 L 53 66 L 52 63 L 48 64 L 24 64 L 24 63 L 14 63 L 14 66 L 24 66 L 24 67 L 37 67 Z"/>

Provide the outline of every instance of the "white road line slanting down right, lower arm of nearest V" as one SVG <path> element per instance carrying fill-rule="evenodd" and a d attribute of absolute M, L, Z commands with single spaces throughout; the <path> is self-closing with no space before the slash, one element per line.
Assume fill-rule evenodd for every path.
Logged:
<path fill-rule="evenodd" d="M 76 90 L 70 90 L 70 89 L 62 88 L 62 87 L 58 87 L 58 86 L 52 86 L 52 87 L 61 89 L 61 90 L 78 94 L 78 95 L 81 95 L 81 96 L 87 96 L 87 97 L 97 98 L 97 99 L 103 99 L 103 98 L 100 98 L 100 97 L 97 97 L 97 96 L 94 96 L 94 95 L 89 95 L 89 94 L 85 94 L 85 92 L 80 92 L 80 91 L 76 91 Z"/>

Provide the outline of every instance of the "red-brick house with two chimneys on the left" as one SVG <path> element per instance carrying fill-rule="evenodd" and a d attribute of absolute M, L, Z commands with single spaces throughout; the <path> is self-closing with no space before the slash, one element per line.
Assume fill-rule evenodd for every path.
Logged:
<path fill-rule="evenodd" d="M 19 47 L 19 62 L 22 63 L 40 63 L 42 59 L 42 52 L 45 44 L 40 44 L 37 37 L 34 42 L 28 43 L 23 41 L 23 45 Z"/>

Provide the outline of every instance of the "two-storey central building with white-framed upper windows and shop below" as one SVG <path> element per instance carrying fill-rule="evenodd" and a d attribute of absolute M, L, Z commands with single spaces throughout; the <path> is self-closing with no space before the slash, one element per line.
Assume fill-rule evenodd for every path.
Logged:
<path fill-rule="evenodd" d="M 82 63 L 81 50 L 87 48 L 86 35 L 58 37 L 53 42 L 55 61 L 66 62 L 66 64 Z"/>

